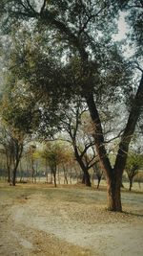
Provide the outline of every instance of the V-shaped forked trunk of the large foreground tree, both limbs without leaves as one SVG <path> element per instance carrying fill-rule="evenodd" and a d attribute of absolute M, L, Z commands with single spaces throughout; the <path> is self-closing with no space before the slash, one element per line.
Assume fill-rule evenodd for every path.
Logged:
<path fill-rule="evenodd" d="M 108 182 L 108 208 L 112 211 L 122 211 L 121 206 L 121 184 L 122 175 L 126 166 L 129 145 L 133 137 L 133 132 L 140 116 L 141 107 L 143 106 L 143 74 L 139 83 L 138 90 L 134 97 L 133 107 L 131 109 L 126 128 L 123 132 L 121 141 L 119 143 L 119 150 L 116 155 L 114 168 L 112 169 L 107 151 L 105 149 L 104 136 L 101 127 L 101 121 L 93 100 L 92 93 L 85 95 L 87 105 L 92 117 L 94 126 L 94 142 L 96 151 L 99 156 L 100 164 L 107 176 Z"/>

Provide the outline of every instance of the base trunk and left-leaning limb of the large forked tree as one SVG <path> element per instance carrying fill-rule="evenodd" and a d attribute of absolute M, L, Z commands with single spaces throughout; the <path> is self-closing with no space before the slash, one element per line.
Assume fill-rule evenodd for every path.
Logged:
<path fill-rule="evenodd" d="M 108 209 L 111 211 L 122 211 L 121 207 L 121 173 L 112 169 L 107 151 L 104 146 L 104 136 L 101 127 L 101 121 L 98 111 L 94 104 L 93 95 L 86 96 L 87 105 L 89 106 L 92 122 L 94 126 L 93 138 L 95 141 L 96 151 L 99 155 L 101 168 L 107 176 L 108 183 Z M 120 174 L 120 175 L 119 175 Z"/>

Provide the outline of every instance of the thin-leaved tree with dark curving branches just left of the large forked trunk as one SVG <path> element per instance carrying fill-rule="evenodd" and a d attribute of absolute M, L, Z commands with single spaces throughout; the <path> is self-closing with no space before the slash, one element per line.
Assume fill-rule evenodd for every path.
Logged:
<path fill-rule="evenodd" d="M 72 144 L 72 149 L 76 161 L 83 172 L 83 183 L 91 187 L 91 178 L 89 170 L 96 162 L 95 153 L 90 153 L 92 140 L 89 140 L 86 130 L 84 130 L 83 114 L 87 111 L 86 106 L 82 106 L 81 100 L 74 100 L 71 109 L 64 111 L 64 119 L 61 119 L 62 128 L 68 133 L 69 137 L 64 140 Z"/>

